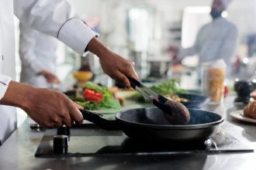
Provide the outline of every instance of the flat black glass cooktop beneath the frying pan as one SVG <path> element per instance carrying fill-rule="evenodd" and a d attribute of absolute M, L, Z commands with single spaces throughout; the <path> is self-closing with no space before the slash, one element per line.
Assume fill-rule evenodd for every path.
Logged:
<path fill-rule="evenodd" d="M 60 138 L 66 141 L 59 141 Z M 122 131 L 104 131 L 94 124 L 85 124 L 83 127 L 71 129 L 47 129 L 35 156 L 37 158 L 58 158 L 220 154 L 253 151 L 224 131 L 218 131 L 213 138 L 207 141 L 182 144 L 171 141 L 136 141 L 128 138 Z"/>

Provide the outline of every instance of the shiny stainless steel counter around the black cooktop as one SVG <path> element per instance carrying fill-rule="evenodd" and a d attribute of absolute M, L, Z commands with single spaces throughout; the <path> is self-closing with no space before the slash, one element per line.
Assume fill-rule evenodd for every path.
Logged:
<path fill-rule="evenodd" d="M 228 97 L 224 104 L 207 105 L 206 110 L 223 114 L 226 121 L 221 129 L 250 148 L 256 149 L 256 124 L 236 121 L 230 111 L 244 106 L 234 106 L 234 97 Z M 36 149 L 43 137 L 43 131 L 31 130 L 25 121 L 0 147 L 0 169 L 256 169 L 256 153 L 235 153 L 217 155 L 150 155 L 111 156 L 83 158 L 35 158 Z"/>

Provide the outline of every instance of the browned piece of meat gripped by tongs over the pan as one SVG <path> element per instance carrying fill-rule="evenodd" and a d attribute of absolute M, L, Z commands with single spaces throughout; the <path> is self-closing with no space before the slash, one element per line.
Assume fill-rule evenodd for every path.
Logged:
<path fill-rule="evenodd" d="M 173 124 L 188 124 L 190 119 L 189 110 L 183 104 L 175 100 L 167 100 L 165 104 L 171 107 L 171 114 L 165 114 L 168 121 Z"/>

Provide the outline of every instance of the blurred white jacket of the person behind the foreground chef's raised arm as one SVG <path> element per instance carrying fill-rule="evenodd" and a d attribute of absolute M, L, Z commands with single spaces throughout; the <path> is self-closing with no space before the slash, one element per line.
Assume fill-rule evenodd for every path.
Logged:
<path fill-rule="evenodd" d="M 19 29 L 19 57 L 22 63 L 20 82 L 50 88 L 50 83 L 38 73 L 42 70 L 55 72 L 57 39 L 21 23 Z"/>

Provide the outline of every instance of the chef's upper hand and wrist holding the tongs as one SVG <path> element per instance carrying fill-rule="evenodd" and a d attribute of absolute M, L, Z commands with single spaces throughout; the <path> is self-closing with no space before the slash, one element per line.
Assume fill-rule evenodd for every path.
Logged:
<path fill-rule="evenodd" d="M 88 43 L 87 49 L 95 53 L 96 56 L 99 56 L 103 71 L 112 77 L 112 79 L 123 83 L 126 88 L 130 88 L 130 82 L 127 76 L 138 80 L 137 73 L 134 70 L 134 63 L 129 59 L 124 59 L 122 56 L 113 53 L 102 42 L 99 42 L 98 39 L 93 38 Z"/>

